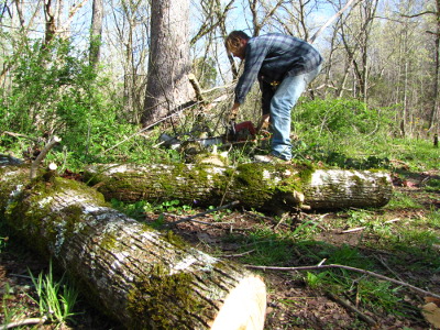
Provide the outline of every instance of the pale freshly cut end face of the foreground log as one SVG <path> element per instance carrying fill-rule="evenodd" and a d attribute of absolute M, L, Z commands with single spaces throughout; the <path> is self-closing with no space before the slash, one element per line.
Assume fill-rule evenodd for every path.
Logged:
<path fill-rule="evenodd" d="M 211 330 L 262 330 L 266 311 L 266 286 L 258 276 L 244 277 L 233 288 L 215 319 Z"/>

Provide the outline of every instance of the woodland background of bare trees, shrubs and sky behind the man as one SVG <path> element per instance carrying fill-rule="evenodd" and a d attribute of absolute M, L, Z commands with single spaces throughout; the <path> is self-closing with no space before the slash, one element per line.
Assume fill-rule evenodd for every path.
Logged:
<path fill-rule="evenodd" d="M 26 147 L 23 143 L 29 141 L 16 146 L 16 136 L 11 136 L 16 133 L 35 139 L 57 134 L 64 153 L 75 160 L 103 151 L 112 156 L 108 148 L 138 132 L 140 123 L 154 123 L 195 100 L 190 73 L 200 81 L 205 100 L 222 95 L 224 101 L 209 111 L 193 102 L 177 127 L 174 123 L 174 134 L 194 129 L 200 113 L 216 133 L 240 70 L 240 63 L 226 53 L 224 36 L 244 30 L 250 35 L 280 32 L 310 40 L 344 4 L 2 1 L 0 145 Z M 305 141 L 327 136 L 333 150 L 345 131 L 374 139 L 437 133 L 439 16 L 438 1 L 353 1 L 315 42 L 326 62 L 304 98 L 305 103 L 314 101 L 294 111 L 294 133 Z M 161 56 L 168 63 L 160 63 Z M 173 89 L 172 97 L 166 89 Z M 161 98 L 165 101 L 157 103 Z M 242 118 L 257 120 L 258 102 L 255 86 Z M 314 136 L 307 134 L 311 129 Z M 144 150 L 136 154 L 153 156 Z"/>

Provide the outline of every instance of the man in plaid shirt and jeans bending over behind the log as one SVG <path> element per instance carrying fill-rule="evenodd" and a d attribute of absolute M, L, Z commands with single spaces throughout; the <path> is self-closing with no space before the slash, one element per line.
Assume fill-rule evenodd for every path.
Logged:
<path fill-rule="evenodd" d="M 266 163 L 289 161 L 290 111 L 307 85 L 319 74 L 321 55 L 307 42 L 278 33 L 250 37 L 242 31 L 233 31 L 226 40 L 226 47 L 233 56 L 244 59 L 229 119 L 235 119 L 240 105 L 258 80 L 263 120 L 270 116 L 273 135 L 271 154 L 255 156 L 255 160 Z"/>

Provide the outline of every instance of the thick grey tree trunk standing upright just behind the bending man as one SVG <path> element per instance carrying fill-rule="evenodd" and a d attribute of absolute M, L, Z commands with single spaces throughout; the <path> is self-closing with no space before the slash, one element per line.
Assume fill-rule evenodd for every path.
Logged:
<path fill-rule="evenodd" d="M 193 100 L 189 0 L 153 0 L 151 51 L 142 124 L 156 122 Z"/>

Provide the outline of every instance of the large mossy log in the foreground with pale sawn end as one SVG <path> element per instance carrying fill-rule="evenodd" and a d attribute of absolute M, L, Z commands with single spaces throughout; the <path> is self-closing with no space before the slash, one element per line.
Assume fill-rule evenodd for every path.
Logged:
<path fill-rule="evenodd" d="M 107 206 L 59 177 L 0 165 L 0 220 L 128 329 L 263 329 L 263 280 Z"/>

